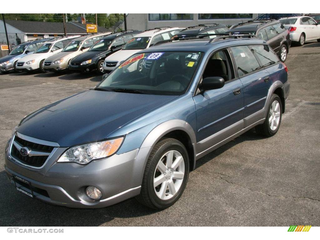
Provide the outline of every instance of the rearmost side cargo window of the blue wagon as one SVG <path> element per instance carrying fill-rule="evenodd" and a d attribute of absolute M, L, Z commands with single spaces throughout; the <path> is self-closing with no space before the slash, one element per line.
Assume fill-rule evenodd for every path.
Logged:
<path fill-rule="evenodd" d="M 268 45 L 251 45 L 249 48 L 260 61 L 261 67 L 267 67 L 279 62 L 279 58 Z"/>

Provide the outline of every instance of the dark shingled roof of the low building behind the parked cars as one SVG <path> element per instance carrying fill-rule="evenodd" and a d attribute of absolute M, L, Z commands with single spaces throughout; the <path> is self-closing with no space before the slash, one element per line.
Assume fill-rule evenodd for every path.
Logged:
<path fill-rule="evenodd" d="M 64 34 L 62 22 L 36 22 L 6 20 L 6 23 L 24 33 Z M 77 22 L 66 23 L 67 34 L 86 34 L 86 25 Z M 109 32 L 107 28 L 98 27 L 98 32 Z"/>

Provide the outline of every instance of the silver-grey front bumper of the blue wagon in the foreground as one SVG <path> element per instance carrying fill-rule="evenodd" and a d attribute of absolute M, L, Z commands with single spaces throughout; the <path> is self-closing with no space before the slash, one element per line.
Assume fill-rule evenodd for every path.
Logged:
<path fill-rule="evenodd" d="M 56 160 L 67 148 L 55 148 L 42 168 L 32 168 L 17 162 L 5 153 L 5 171 L 12 184 L 13 175 L 31 183 L 32 191 L 16 181 L 17 187 L 44 202 L 76 208 L 98 208 L 116 204 L 140 193 L 140 182 L 134 171 L 139 149 L 86 165 L 57 163 Z M 145 152 L 142 151 L 144 154 Z M 139 173 L 140 174 L 140 173 Z M 92 200 L 85 194 L 88 186 L 100 189 L 100 200 Z"/>

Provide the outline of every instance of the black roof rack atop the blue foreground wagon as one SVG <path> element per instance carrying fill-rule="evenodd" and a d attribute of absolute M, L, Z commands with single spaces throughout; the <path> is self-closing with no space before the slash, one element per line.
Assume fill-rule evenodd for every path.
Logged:
<path fill-rule="evenodd" d="M 192 36 L 195 36 L 195 37 L 192 37 Z M 254 35 L 252 33 L 241 33 L 241 34 L 232 34 L 232 33 L 193 34 L 193 35 L 184 35 L 184 36 L 173 36 L 171 39 L 157 42 L 157 43 L 153 44 L 153 46 L 159 45 L 159 44 L 163 44 L 163 43 L 169 43 L 169 42 L 173 42 L 173 41 L 180 41 L 180 40 L 203 39 L 206 36 L 217 36 L 215 38 L 212 38 L 209 41 L 209 43 L 217 42 L 220 39 L 223 39 L 223 40 L 226 40 L 226 38 L 235 38 L 235 39 L 237 39 L 239 37 L 244 37 L 244 36 L 246 36 L 248 38 L 256 38 L 256 35 Z"/>

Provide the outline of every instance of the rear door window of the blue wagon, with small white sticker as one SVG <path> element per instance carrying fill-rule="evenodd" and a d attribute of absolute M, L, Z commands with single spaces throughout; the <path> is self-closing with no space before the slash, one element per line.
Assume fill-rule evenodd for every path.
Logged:
<path fill-rule="evenodd" d="M 230 48 L 236 61 L 236 69 L 239 76 L 246 75 L 260 69 L 260 65 L 248 46 L 237 46 Z"/>

